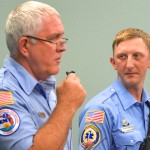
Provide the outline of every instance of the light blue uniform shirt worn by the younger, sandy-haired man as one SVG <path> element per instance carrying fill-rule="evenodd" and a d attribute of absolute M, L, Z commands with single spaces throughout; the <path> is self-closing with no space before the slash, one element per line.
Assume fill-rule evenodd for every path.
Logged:
<path fill-rule="evenodd" d="M 143 89 L 142 102 L 116 79 L 84 107 L 79 118 L 79 150 L 88 139 L 94 140 L 92 150 L 138 150 L 147 135 L 148 94 Z"/>

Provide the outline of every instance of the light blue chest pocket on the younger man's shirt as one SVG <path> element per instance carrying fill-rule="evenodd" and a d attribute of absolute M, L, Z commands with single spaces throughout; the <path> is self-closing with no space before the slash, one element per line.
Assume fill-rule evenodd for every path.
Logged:
<path fill-rule="evenodd" d="M 114 143 L 117 149 L 130 149 L 133 150 L 133 146 L 135 146 L 138 142 L 143 140 L 142 135 L 139 131 L 134 130 L 132 132 L 123 133 L 121 131 L 117 132 L 113 135 Z"/>

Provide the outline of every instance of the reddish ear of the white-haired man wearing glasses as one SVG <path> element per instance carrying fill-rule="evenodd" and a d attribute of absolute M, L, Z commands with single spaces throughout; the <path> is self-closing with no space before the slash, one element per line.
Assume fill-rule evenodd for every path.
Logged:
<path fill-rule="evenodd" d="M 27 37 L 21 37 L 18 40 L 18 51 L 24 56 L 24 57 L 28 57 L 29 53 L 28 53 L 28 48 L 29 48 L 29 44 L 30 44 L 30 40 Z"/>

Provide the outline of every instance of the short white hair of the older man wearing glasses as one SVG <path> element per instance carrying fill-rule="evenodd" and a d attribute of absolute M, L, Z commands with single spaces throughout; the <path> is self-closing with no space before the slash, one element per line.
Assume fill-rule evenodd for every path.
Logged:
<path fill-rule="evenodd" d="M 50 5 L 37 1 L 27 1 L 14 9 L 8 16 L 5 28 L 10 53 L 18 50 L 18 39 L 21 36 L 37 34 L 43 22 L 51 15 L 60 16 Z"/>

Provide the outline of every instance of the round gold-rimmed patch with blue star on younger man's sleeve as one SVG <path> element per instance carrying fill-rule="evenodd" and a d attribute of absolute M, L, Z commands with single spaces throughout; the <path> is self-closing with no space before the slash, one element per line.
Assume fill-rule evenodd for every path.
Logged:
<path fill-rule="evenodd" d="M 100 142 L 100 131 L 93 124 L 85 126 L 82 131 L 80 137 L 80 144 L 82 145 L 82 147 L 85 147 L 85 144 L 89 139 L 93 140 L 92 147 L 95 147 Z"/>

